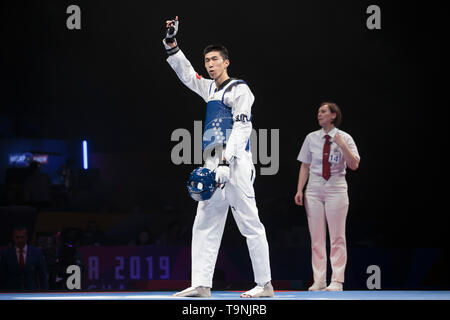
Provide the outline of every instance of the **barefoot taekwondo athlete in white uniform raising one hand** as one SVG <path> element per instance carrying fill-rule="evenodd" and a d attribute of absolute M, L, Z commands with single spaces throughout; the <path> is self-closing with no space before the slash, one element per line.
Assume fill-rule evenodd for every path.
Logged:
<path fill-rule="evenodd" d="M 205 49 L 205 67 L 213 80 L 199 76 L 177 45 L 178 24 L 178 17 L 166 22 L 163 43 L 169 55 L 167 62 L 179 79 L 207 103 L 202 148 L 211 150 L 223 145 L 224 153 L 211 153 L 205 159 L 204 167 L 216 172 L 216 180 L 223 188 L 198 204 L 192 230 L 192 283 L 175 296 L 211 296 L 214 266 L 231 206 L 237 226 L 246 237 L 257 284 L 241 297 L 272 297 L 269 246 L 253 190 L 255 168 L 249 139 L 254 96 L 244 81 L 229 78 L 230 62 L 223 46 L 211 45 Z"/>

